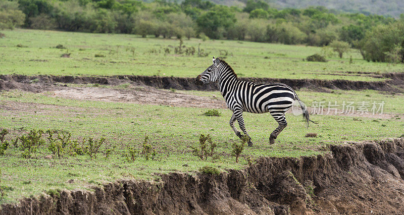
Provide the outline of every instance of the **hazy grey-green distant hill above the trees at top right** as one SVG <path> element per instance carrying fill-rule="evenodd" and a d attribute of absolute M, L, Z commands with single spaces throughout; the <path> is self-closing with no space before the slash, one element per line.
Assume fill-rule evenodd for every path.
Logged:
<path fill-rule="evenodd" d="M 324 6 L 337 11 L 399 17 L 404 13 L 404 0 L 264 0 L 274 8 L 307 8 Z M 243 7 L 247 0 L 212 0 L 217 4 Z"/>

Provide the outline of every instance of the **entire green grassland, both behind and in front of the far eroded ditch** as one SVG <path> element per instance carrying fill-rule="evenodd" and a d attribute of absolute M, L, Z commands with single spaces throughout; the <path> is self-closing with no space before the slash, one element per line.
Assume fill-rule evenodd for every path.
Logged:
<path fill-rule="evenodd" d="M 402 64 L 363 61 L 354 49 L 344 55 L 343 59 L 331 58 L 328 63 L 314 63 L 302 59 L 321 51 L 319 47 L 228 40 L 184 40 L 186 46 L 197 49 L 200 43 L 200 47 L 209 52 L 207 57 L 195 57 L 173 53 L 179 43 L 173 39 L 26 29 L 2 32 L 6 34 L 5 38 L 0 39 L 2 75 L 195 77 L 211 63 L 212 55 L 223 55 L 223 50 L 229 52 L 226 61 L 241 77 L 382 81 L 385 79 L 376 78 L 375 75 L 404 71 Z M 67 49 L 55 48 L 58 44 Z M 166 48 L 170 49 L 170 53 L 165 53 Z M 62 58 L 63 53 L 70 53 L 70 58 Z M 350 56 L 352 64 L 349 64 Z M 128 86 L 128 83 L 119 86 L 96 85 L 117 89 Z M 68 84 L 67 87 L 78 85 Z M 218 91 L 176 92 L 209 97 L 215 94 L 215 99 L 223 99 Z M 329 144 L 404 135 L 402 94 L 372 90 L 334 90 L 326 93 L 301 89 L 296 92 L 309 107 L 315 101 L 324 101 L 325 109 L 328 101 L 336 101 L 338 104 L 343 101 L 355 104 L 360 101 L 384 101 L 384 112 L 388 114 L 380 117 L 383 119 L 360 115 L 313 115 L 319 124 L 309 128 L 301 116 L 287 114 L 288 127 L 278 137 L 276 144 L 270 145 L 269 134 L 277 123 L 268 114 L 245 113 L 246 128 L 255 145 L 246 147 L 240 163 L 236 164 L 231 155 L 231 145 L 239 140 L 228 125 L 231 112 L 227 109 L 219 110 L 222 113 L 220 117 L 207 117 L 201 113 L 208 108 L 75 100 L 53 97 L 51 92 L 1 91 L 0 125 L 10 130 L 8 139 L 26 134 L 31 129 L 59 129 L 71 132 L 74 138 L 105 137 L 107 142 L 94 159 L 88 155 L 46 159 L 44 156 L 51 154 L 46 146 L 40 147 L 33 158 L 26 159 L 22 157 L 20 149 L 10 145 L 6 154 L 0 156 L 1 186 L 6 194 L 0 197 L 0 204 L 37 196 L 52 189 L 91 189 L 93 185 L 121 178 L 158 180 L 160 173 L 179 171 L 194 174 L 204 166 L 226 171 L 245 167 L 249 156 L 253 159 L 260 156 L 311 156 L 327 152 Z M 318 137 L 305 137 L 309 132 L 318 134 Z M 210 134 L 218 144 L 217 159 L 203 161 L 192 155 L 190 146 L 197 144 L 200 134 Z M 158 151 L 156 159 L 145 160 L 138 155 L 133 163 L 128 162 L 123 156 L 128 146 L 140 150 L 145 135 L 148 135 L 149 143 Z M 106 158 L 107 150 L 111 148 L 115 150 Z M 72 179 L 74 183 L 69 183 Z"/>

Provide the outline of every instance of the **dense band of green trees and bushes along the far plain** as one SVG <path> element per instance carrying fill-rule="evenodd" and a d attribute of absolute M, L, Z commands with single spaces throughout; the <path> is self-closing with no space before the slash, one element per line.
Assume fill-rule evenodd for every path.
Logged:
<path fill-rule="evenodd" d="M 358 48 L 365 60 L 404 60 L 404 14 L 338 13 L 324 7 L 271 8 L 248 0 L 244 8 L 204 0 L 0 0 L 0 29 L 25 27 L 143 37 L 211 38 Z"/>

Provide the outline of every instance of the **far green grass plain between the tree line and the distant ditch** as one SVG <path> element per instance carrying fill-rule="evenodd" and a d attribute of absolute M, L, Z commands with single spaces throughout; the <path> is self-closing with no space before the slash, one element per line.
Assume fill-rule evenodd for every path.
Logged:
<path fill-rule="evenodd" d="M 184 45 L 196 49 L 201 43 L 200 47 L 209 53 L 208 57 L 199 58 L 175 55 L 174 46 L 178 46 L 179 41 L 174 39 L 29 29 L 2 32 L 6 37 L 0 39 L 0 74 L 196 77 L 212 64 L 212 56 L 220 56 L 220 50 L 224 49 L 230 53 L 226 61 L 239 77 L 381 81 L 382 78 L 373 76 L 402 72 L 404 69 L 403 64 L 366 62 L 355 49 L 344 54 L 343 59 L 334 57 L 327 63 L 318 63 L 302 59 L 319 52 L 320 47 L 232 40 L 184 40 Z M 18 44 L 27 47 L 17 47 Z M 54 48 L 58 44 L 67 49 Z M 171 49 L 170 54 L 164 52 L 167 47 Z M 66 52 L 71 53 L 70 58 L 61 58 Z M 354 59 L 353 64 L 349 64 L 350 56 Z"/>

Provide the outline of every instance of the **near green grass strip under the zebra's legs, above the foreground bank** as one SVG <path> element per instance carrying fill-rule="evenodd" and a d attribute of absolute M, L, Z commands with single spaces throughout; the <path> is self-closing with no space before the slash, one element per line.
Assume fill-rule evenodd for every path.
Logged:
<path fill-rule="evenodd" d="M 231 144 L 238 138 L 228 125 L 229 110 L 221 110 L 220 117 L 207 117 L 200 113 L 208 109 L 78 101 L 21 91 L 3 91 L 0 100 L 0 106 L 4 107 L 0 109 L 0 124 L 14 136 L 29 129 L 63 129 L 74 137 L 107 138 L 93 160 L 89 156 L 45 159 L 45 155 L 51 154 L 45 147 L 35 154 L 37 158 L 24 159 L 20 150 L 10 146 L 6 155 L 0 157 L 2 187 L 7 188 L 0 204 L 15 202 L 23 196 L 37 196 L 49 189 L 90 189 L 92 185 L 121 178 L 156 180 L 155 173 L 193 174 L 204 166 L 226 171 L 247 165 L 246 158 L 241 157 L 236 164 L 230 155 Z M 398 137 L 403 134 L 404 126 L 402 120 L 393 119 L 313 116 L 319 124 L 306 128 L 301 116 L 287 114 L 288 127 L 276 144 L 269 145 L 269 134 L 277 126 L 273 118 L 269 114 L 245 113 L 244 119 L 255 146 L 245 147 L 242 155 L 254 158 L 315 155 L 323 153 L 328 144 Z M 306 138 L 309 132 L 317 133 L 318 137 Z M 210 134 L 218 143 L 219 159 L 203 162 L 192 155 L 188 146 L 196 144 L 201 133 Z M 138 157 L 134 163 L 128 163 L 122 156 L 127 145 L 134 144 L 140 149 L 145 134 L 159 152 L 157 160 Z M 116 151 L 105 159 L 106 149 L 112 146 L 117 147 Z M 74 183 L 68 183 L 70 179 Z"/>

